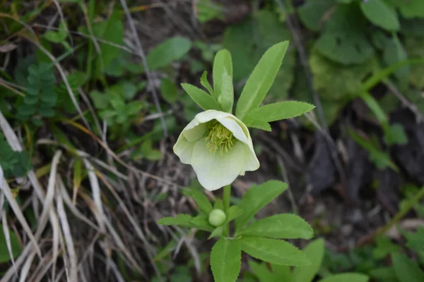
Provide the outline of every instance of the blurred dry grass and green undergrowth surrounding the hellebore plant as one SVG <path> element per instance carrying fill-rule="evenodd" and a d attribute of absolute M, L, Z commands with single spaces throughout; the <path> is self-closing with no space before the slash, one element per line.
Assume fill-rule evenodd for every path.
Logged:
<path fill-rule="evenodd" d="M 237 97 L 285 40 L 266 102 L 317 109 L 252 130 L 261 168 L 235 195 L 288 182 L 262 212 L 314 226 L 317 277 L 424 281 L 423 0 L 0 1 L 1 281 L 212 281 L 211 242 L 156 224 L 197 209 L 180 83 L 225 48 Z M 270 271 L 244 258 L 240 281 Z"/>

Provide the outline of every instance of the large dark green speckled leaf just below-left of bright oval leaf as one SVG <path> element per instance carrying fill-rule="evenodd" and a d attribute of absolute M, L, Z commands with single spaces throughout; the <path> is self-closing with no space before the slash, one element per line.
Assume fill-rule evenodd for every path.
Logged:
<path fill-rule="evenodd" d="M 365 63 L 374 54 L 366 19 L 356 4 L 336 6 L 314 46 L 326 58 L 344 65 Z"/>

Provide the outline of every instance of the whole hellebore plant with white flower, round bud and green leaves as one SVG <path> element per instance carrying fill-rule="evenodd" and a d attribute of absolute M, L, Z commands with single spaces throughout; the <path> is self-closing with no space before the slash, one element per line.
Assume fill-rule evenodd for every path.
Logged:
<path fill-rule="evenodd" d="M 294 214 L 277 214 L 252 224 L 255 214 L 283 193 L 288 185 L 269 180 L 254 185 L 237 205 L 230 205 L 231 183 L 246 171 L 259 168 L 248 127 L 271 130 L 269 122 L 300 116 L 314 108 L 302 102 L 278 102 L 261 106 L 280 69 L 288 42 L 269 48 L 246 82 L 235 108 L 232 85 L 232 59 L 227 50 L 218 51 L 213 62 L 213 87 L 207 73 L 201 76 L 205 92 L 194 85 L 184 90 L 204 112 L 197 114 L 174 146 L 184 164 L 193 166 L 199 183 L 207 190 L 224 187 L 223 199 L 213 204 L 203 192 L 187 190 L 199 206 L 197 216 L 178 214 L 158 223 L 187 226 L 218 238 L 211 250 L 211 269 L 216 282 L 235 281 L 240 274 L 242 252 L 264 262 L 305 266 L 310 261 L 296 247 L 281 239 L 312 238 L 310 225 Z M 230 228 L 233 223 L 233 230 Z M 232 232 L 230 232 L 232 230 Z"/>

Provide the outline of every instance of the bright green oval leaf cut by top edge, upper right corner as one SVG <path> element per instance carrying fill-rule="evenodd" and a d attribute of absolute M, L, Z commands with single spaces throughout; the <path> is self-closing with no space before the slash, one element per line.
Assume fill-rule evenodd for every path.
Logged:
<path fill-rule="evenodd" d="M 396 9 L 384 0 L 360 1 L 360 8 L 364 15 L 378 27 L 384 30 L 398 31 L 400 24 Z"/>

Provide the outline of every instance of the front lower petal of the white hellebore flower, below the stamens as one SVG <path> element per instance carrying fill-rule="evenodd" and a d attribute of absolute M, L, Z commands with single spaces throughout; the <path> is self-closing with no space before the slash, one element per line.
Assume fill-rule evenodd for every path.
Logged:
<path fill-rule="evenodd" d="M 236 142 L 232 149 L 220 155 L 218 150 L 209 152 L 206 140 L 196 142 L 192 152 L 192 166 L 200 184 L 209 191 L 217 190 L 232 183 L 245 164 L 245 145 Z"/>

